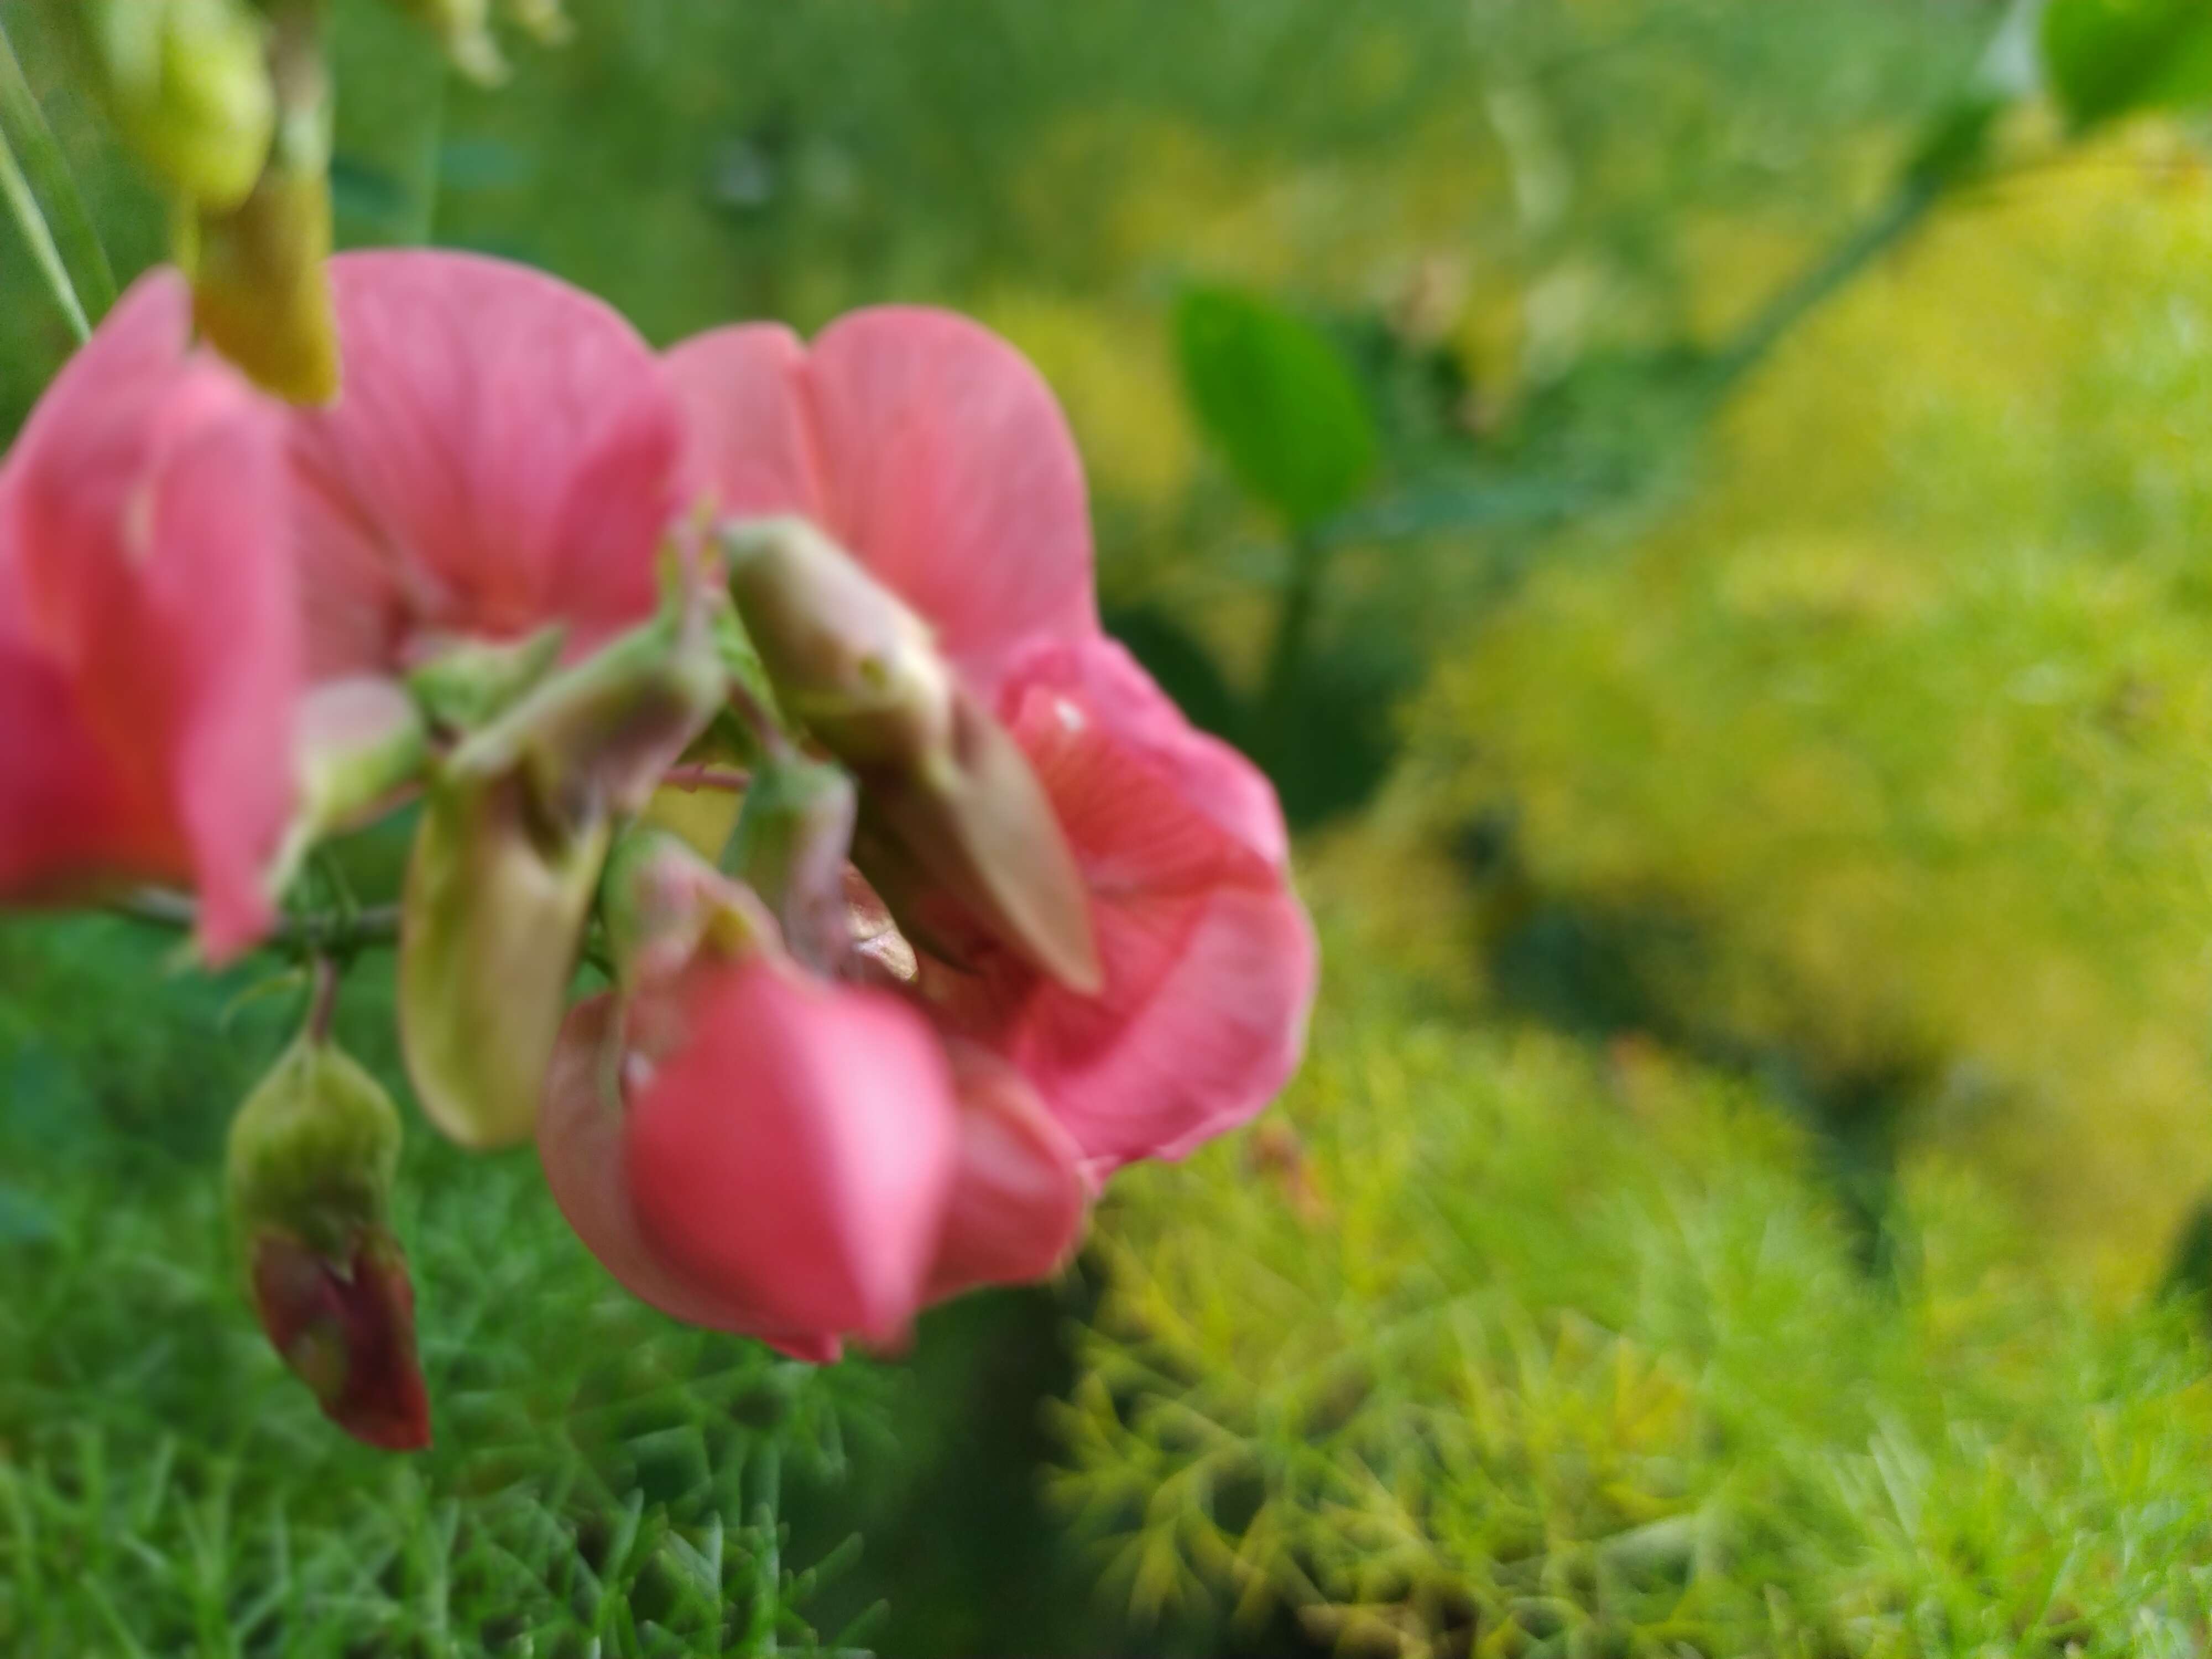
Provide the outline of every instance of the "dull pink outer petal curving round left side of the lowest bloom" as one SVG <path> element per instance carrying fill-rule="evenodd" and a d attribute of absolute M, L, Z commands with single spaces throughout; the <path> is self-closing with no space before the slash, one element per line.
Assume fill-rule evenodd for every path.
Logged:
<path fill-rule="evenodd" d="M 688 1325 L 759 1336 L 792 1358 L 816 1365 L 836 1360 L 841 1347 L 834 1334 L 776 1329 L 754 1310 L 686 1279 L 646 1243 L 630 1203 L 622 1102 L 606 1091 L 602 1077 L 613 1018 L 613 995 L 577 1004 L 562 1026 L 546 1073 L 538 1157 L 560 1212 L 624 1290 L 664 1314 Z"/>

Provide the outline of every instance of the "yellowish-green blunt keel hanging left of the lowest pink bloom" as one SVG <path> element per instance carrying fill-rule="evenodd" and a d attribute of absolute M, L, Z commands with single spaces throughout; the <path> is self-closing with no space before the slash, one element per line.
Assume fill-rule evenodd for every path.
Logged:
<path fill-rule="evenodd" d="M 531 1135 L 606 845 L 604 816 L 546 812 L 522 772 L 449 779 L 422 805 L 400 1048 L 422 1110 L 462 1146 Z"/>

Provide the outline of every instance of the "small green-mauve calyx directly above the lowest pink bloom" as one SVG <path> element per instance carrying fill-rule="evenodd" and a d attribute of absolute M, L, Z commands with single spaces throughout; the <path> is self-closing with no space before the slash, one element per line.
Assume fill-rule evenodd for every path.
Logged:
<path fill-rule="evenodd" d="M 854 812 L 843 770 L 790 757 L 754 772 L 737 821 L 737 874 L 774 909 L 785 949 L 816 973 L 841 971 L 854 945 L 845 898 Z"/>

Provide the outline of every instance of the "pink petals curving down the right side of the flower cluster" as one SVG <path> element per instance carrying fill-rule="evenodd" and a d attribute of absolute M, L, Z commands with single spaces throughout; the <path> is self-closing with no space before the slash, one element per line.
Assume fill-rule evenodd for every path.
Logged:
<path fill-rule="evenodd" d="M 1095 1172 L 1259 1113 L 1305 1037 L 1316 953 L 1283 814 L 1099 635 L 1082 465 L 1013 347 L 874 310 L 679 345 L 690 469 L 726 513 L 803 513 L 936 630 L 1044 781 L 1091 891 L 1099 995 L 989 938 L 922 962 L 940 1024 L 1009 1060 Z M 958 922 L 931 931 L 958 931 Z"/>

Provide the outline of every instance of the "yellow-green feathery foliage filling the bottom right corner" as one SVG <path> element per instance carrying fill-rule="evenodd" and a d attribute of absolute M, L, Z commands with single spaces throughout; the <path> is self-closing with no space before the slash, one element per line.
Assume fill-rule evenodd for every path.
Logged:
<path fill-rule="evenodd" d="M 1057 1495 L 1164 1644 L 1287 1604 L 1383 1655 L 2190 1650 L 2201 1307 L 2048 1287 L 1955 1168 L 1869 1279 L 1761 1091 L 1413 1013 L 1325 933 L 1283 1124 L 1106 1217 Z"/>

